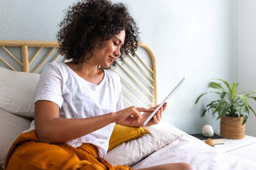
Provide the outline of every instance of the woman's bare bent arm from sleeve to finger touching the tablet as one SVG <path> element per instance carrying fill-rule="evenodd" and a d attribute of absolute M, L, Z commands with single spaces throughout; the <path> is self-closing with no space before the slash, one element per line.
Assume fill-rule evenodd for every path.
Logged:
<path fill-rule="evenodd" d="M 128 126 L 137 124 L 142 119 L 140 111 L 152 111 L 152 109 L 129 107 L 116 113 L 96 117 L 64 119 L 59 118 L 58 104 L 50 101 L 38 101 L 35 103 L 35 128 L 41 142 L 66 142 L 87 135 L 113 122 L 125 122 Z"/>

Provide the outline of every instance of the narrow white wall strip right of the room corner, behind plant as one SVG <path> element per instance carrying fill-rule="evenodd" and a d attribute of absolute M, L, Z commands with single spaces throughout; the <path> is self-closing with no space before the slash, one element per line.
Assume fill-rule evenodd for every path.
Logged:
<path fill-rule="evenodd" d="M 256 91 L 256 1 L 238 0 L 239 90 Z M 249 103 L 256 111 L 256 102 Z M 256 117 L 250 112 L 246 134 L 256 136 Z"/>

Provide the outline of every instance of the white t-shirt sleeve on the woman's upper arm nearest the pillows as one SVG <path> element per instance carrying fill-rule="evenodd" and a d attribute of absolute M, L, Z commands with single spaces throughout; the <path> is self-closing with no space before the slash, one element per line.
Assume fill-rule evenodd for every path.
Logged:
<path fill-rule="evenodd" d="M 46 65 L 41 71 L 39 83 L 36 87 L 35 102 L 39 100 L 51 101 L 61 108 L 63 103 L 63 79 L 63 72 L 54 62 Z"/>

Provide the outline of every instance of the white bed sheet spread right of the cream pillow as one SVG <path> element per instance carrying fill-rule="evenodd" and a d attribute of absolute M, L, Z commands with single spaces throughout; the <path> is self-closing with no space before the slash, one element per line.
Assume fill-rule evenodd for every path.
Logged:
<path fill-rule="evenodd" d="M 167 126 L 176 128 L 171 124 Z M 136 170 L 165 163 L 186 162 L 197 170 L 256 170 L 256 162 L 223 153 L 196 137 L 182 133 L 182 137 L 142 159 L 132 168 Z"/>

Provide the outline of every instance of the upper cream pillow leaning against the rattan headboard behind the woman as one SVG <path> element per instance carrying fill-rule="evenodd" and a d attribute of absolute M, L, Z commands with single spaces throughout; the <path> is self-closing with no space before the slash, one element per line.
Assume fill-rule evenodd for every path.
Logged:
<path fill-rule="evenodd" d="M 0 109 L 33 118 L 38 81 L 39 74 L 0 68 Z"/>

